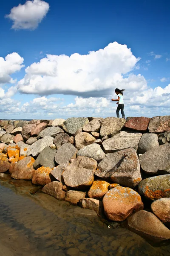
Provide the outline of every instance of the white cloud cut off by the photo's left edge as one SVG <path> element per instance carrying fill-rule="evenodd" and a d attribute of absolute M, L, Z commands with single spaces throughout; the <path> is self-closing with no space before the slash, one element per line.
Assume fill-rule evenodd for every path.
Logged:
<path fill-rule="evenodd" d="M 5 59 L 0 57 L 0 84 L 14 83 L 11 74 L 19 71 L 24 59 L 17 52 L 8 54 Z"/>

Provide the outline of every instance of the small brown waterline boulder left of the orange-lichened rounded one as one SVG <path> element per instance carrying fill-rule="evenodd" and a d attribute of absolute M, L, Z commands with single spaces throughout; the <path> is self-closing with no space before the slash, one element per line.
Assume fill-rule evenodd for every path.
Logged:
<path fill-rule="evenodd" d="M 65 194 L 65 201 L 77 205 L 80 199 L 85 198 L 85 192 L 76 191 L 76 190 L 69 190 Z"/>

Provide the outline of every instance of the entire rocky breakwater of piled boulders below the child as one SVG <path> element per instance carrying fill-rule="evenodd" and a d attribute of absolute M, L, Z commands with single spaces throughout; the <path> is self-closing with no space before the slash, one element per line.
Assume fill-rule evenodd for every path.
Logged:
<path fill-rule="evenodd" d="M 170 239 L 170 116 L 0 120 L 0 172 L 113 226 Z"/>

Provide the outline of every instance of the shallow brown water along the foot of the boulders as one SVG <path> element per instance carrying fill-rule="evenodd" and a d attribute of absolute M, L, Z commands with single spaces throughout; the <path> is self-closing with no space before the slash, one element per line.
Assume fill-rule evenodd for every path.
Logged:
<path fill-rule="evenodd" d="M 0 231 L 0 256 L 170 256 L 170 245 L 108 228 L 96 212 L 8 175 L 0 177 Z"/>

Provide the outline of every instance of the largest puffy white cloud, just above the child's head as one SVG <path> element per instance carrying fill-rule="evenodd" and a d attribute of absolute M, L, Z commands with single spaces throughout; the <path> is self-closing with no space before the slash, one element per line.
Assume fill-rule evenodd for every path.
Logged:
<path fill-rule="evenodd" d="M 48 54 L 40 62 L 26 68 L 25 77 L 18 82 L 18 90 L 41 96 L 55 93 L 108 96 L 117 84 L 129 88 L 128 79 L 123 76 L 132 71 L 138 61 L 139 58 L 126 45 L 117 42 L 87 55 L 74 53 L 69 57 Z M 141 82 L 146 84 L 142 76 L 133 75 L 133 79 L 131 84 L 136 89 L 141 89 Z"/>

